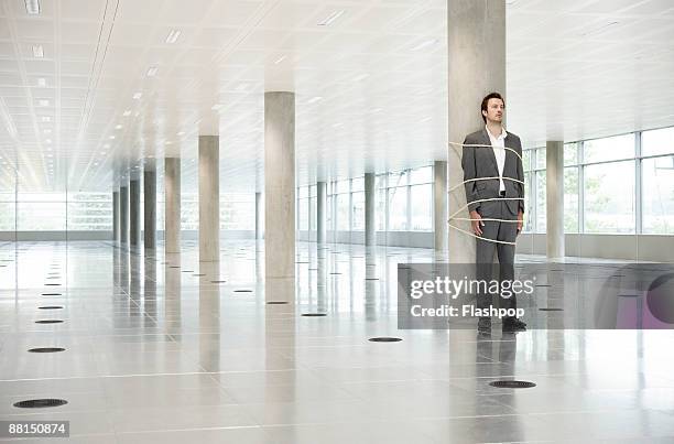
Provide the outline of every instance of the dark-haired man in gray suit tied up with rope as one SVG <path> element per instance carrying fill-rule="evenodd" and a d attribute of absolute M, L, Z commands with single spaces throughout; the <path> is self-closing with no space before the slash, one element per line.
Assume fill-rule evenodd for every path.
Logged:
<path fill-rule="evenodd" d="M 486 126 L 466 137 L 461 166 L 471 226 L 478 237 L 477 279 L 486 282 L 493 279 L 492 262 L 496 252 L 499 258 L 499 281 L 503 282 L 514 279 L 512 243 L 522 230 L 524 215 L 522 142 L 519 137 L 503 129 L 506 101 L 500 94 L 487 95 L 482 99 L 481 111 Z M 499 302 L 502 308 L 517 307 L 514 295 L 508 299 L 500 297 Z M 489 308 L 491 295 L 479 293 L 477 306 Z M 524 329 L 526 324 L 517 317 L 503 318 L 503 331 Z M 491 317 L 479 318 L 478 332 L 491 332 Z"/>

